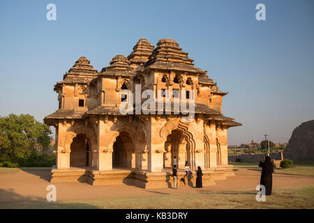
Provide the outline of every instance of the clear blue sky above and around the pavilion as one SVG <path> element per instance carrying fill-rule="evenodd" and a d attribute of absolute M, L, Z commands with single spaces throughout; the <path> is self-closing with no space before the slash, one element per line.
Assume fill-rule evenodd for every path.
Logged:
<path fill-rule="evenodd" d="M 48 3 L 57 21 L 46 20 Z M 266 21 L 255 19 L 264 3 Z M 53 85 L 80 56 L 94 68 L 128 56 L 140 38 L 172 38 L 209 70 L 223 114 L 243 124 L 229 144 L 263 134 L 275 142 L 314 119 L 314 1 L 3 1 L 0 3 L 0 116 L 39 121 L 57 109 Z"/>

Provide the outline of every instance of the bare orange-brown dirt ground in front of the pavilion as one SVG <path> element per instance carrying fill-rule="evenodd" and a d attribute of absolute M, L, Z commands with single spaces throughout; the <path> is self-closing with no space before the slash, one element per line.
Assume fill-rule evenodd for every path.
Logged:
<path fill-rule="evenodd" d="M 92 186 L 87 183 L 54 183 L 57 200 L 100 199 L 110 197 L 156 196 L 158 194 L 199 194 L 202 192 L 234 192 L 255 190 L 260 183 L 260 170 L 237 168 L 235 176 L 216 180 L 216 185 L 196 189 L 193 187 L 145 190 L 131 185 Z M 0 203 L 6 201 L 45 201 L 46 187 L 50 185 L 49 170 L 20 170 L 0 174 Z M 273 187 L 314 185 L 313 176 L 274 174 Z"/>

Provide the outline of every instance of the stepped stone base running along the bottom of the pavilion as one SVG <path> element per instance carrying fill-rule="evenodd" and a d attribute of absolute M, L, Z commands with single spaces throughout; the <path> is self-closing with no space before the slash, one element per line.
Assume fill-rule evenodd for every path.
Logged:
<path fill-rule="evenodd" d="M 203 186 L 215 185 L 215 180 L 226 180 L 234 176 L 231 165 L 215 167 L 203 171 Z M 193 178 L 187 179 L 184 171 L 178 172 L 178 186 L 195 187 L 196 174 Z M 151 173 L 148 171 L 114 169 L 112 171 L 98 171 L 94 169 L 52 169 L 51 183 L 89 183 L 90 185 L 133 185 L 144 189 L 172 188 L 172 171 Z"/>

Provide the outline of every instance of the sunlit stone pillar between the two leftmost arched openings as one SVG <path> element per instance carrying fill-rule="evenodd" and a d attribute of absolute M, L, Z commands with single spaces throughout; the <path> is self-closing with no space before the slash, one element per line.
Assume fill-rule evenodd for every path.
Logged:
<path fill-rule="evenodd" d="M 99 171 L 112 170 L 112 152 L 113 148 L 108 148 L 106 143 L 105 130 L 105 118 L 104 116 L 98 116 L 98 165 Z"/>

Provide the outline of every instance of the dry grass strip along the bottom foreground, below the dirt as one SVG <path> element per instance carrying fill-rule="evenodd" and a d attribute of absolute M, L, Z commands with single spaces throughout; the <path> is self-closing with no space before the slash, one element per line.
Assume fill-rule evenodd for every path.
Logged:
<path fill-rule="evenodd" d="M 105 199 L 75 199 L 54 202 L 12 201 L 0 202 L 0 208 L 314 208 L 314 185 L 273 188 L 265 202 L 257 202 L 255 190 L 211 192 L 196 194 L 165 194 L 142 197 Z"/>

